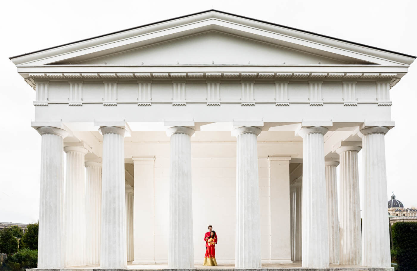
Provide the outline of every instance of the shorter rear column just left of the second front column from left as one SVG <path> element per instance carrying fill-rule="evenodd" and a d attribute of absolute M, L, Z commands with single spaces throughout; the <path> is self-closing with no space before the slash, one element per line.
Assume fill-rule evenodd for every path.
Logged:
<path fill-rule="evenodd" d="M 85 162 L 85 221 L 87 264 L 100 263 L 102 163 Z"/>

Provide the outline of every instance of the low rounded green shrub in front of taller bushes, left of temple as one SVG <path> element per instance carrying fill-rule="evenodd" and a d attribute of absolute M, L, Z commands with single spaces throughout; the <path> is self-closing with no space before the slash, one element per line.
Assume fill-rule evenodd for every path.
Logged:
<path fill-rule="evenodd" d="M 3 261 L 2 269 L 5 271 L 24 271 L 26 268 L 36 267 L 38 267 L 38 250 L 25 248 L 8 256 Z"/>

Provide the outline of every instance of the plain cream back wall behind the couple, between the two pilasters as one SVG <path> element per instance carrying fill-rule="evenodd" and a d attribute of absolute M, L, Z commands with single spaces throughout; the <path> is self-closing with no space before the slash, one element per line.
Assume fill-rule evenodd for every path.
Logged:
<path fill-rule="evenodd" d="M 154 261 L 156 263 L 168 261 L 169 162 L 169 157 L 156 156 L 154 172 Z M 217 261 L 219 263 L 234 263 L 236 158 L 192 158 L 191 163 L 194 260 L 196 263 L 203 262 L 204 233 L 208 231 L 208 225 L 213 225 L 213 229 L 219 237 L 219 243 L 216 246 Z M 259 158 L 259 193 L 261 253 L 262 258 L 267 260 L 271 255 L 269 163 L 267 158 Z M 146 208 L 146 206 L 143 207 Z"/>

